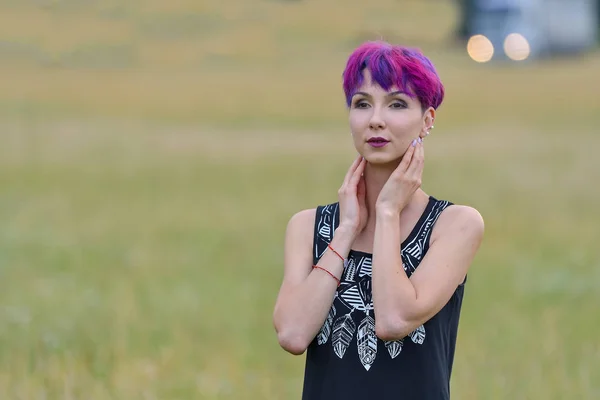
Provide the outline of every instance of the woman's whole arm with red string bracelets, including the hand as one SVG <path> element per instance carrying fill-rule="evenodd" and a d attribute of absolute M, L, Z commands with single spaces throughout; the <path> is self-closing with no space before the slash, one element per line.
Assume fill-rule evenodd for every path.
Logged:
<path fill-rule="evenodd" d="M 340 224 L 329 244 L 344 259 L 367 221 L 365 165 L 364 158 L 357 156 L 338 190 Z M 315 216 L 315 209 L 295 214 L 285 234 L 284 277 L 273 324 L 281 347 L 292 354 L 304 353 L 323 326 L 344 272 L 343 260 L 329 249 L 319 259 L 318 266 L 336 278 L 322 269 L 313 269 Z"/>

